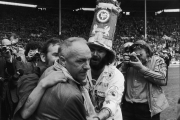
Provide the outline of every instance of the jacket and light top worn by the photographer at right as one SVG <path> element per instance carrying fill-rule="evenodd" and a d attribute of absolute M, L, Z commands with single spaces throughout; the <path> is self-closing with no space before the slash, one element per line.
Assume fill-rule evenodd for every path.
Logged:
<path fill-rule="evenodd" d="M 124 67 L 124 68 L 123 68 Z M 125 75 L 126 101 L 131 103 L 149 104 L 151 116 L 166 109 L 168 101 L 160 86 L 166 83 L 166 64 L 159 56 L 153 56 L 147 63 L 145 70 L 136 70 L 133 67 L 121 66 Z"/>

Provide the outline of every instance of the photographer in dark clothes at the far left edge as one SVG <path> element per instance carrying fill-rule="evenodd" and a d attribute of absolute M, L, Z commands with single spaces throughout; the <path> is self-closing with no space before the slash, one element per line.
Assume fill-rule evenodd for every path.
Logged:
<path fill-rule="evenodd" d="M 12 118 L 18 101 L 16 82 L 19 77 L 17 60 L 12 43 L 3 39 L 0 46 L 0 119 Z"/>

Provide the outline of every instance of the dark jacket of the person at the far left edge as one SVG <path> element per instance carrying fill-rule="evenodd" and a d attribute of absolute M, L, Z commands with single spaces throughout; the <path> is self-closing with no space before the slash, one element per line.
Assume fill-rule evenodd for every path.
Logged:
<path fill-rule="evenodd" d="M 11 118 L 18 101 L 16 94 L 16 59 L 12 63 L 0 56 L 0 119 L 6 120 Z"/>

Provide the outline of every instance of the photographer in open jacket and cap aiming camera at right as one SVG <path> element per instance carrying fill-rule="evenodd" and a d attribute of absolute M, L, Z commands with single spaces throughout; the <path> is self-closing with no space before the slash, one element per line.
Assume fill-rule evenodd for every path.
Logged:
<path fill-rule="evenodd" d="M 143 40 L 136 41 L 131 49 L 120 67 L 125 75 L 123 120 L 160 120 L 160 113 L 168 107 L 160 87 L 166 83 L 166 64 L 159 56 L 153 56 Z"/>

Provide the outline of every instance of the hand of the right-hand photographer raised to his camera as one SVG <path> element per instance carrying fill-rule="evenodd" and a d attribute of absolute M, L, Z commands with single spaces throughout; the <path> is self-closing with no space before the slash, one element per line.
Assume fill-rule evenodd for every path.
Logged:
<path fill-rule="evenodd" d="M 139 58 L 138 58 L 136 55 L 134 55 L 134 54 L 131 55 L 131 56 L 135 57 L 136 61 L 131 61 L 131 60 L 130 60 L 129 64 L 130 64 L 133 68 L 135 68 L 135 69 L 137 69 L 137 70 L 142 69 L 144 66 L 143 66 L 142 62 L 139 60 Z"/>

